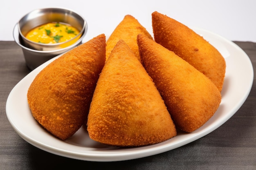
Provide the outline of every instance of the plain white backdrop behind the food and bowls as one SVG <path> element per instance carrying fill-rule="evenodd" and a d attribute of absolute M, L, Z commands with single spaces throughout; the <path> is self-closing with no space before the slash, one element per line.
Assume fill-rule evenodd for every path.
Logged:
<path fill-rule="evenodd" d="M 228 40 L 256 42 L 256 0 L 3 0 L 0 40 L 13 40 L 16 22 L 28 12 L 45 7 L 65 7 L 80 13 L 88 22 L 84 41 L 101 33 L 110 35 L 126 14 L 152 34 L 151 13 L 158 11 Z"/>

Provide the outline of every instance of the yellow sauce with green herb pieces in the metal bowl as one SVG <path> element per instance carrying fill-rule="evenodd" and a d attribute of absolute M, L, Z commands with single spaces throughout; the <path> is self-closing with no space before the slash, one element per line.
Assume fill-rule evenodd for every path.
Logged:
<path fill-rule="evenodd" d="M 25 37 L 33 42 L 54 44 L 71 40 L 72 38 L 76 37 L 79 32 L 80 31 L 78 31 L 75 27 L 68 24 L 50 22 L 31 29 L 27 35 L 25 35 Z M 76 40 L 78 40 L 80 36 L 78 36 Z M 76 42 L 76 40 L 66 44 L 65 46 L 73 44 Z"/>

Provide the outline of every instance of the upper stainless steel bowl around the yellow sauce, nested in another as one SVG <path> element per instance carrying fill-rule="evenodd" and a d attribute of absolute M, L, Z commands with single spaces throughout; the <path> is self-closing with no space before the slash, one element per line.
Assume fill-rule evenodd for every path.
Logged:
<path fill-rule="evenodd" d="M 33 42 L 28 40 L 25 35 L 36 26 L 46 24 L 49 22 L 62 22 L 74 26 L 80 31 L 76 37 L 71 40 L 54 43 L 54 44 L 43 44 L 38 42 Z M 82 34 L 85 34 L 87 31 L 87 23 L 85 19 L 72 11 L 71 9 L 65 8 L 44 8 L 36 9 L 27 13 L 23 16 L 18 22 L 18 31 L 20 33 L 20 38 L 24 46 L 30 49 L 39 50 L 39 51 L 53 51 L 58 49 L 63 49 L 70 44 L 74 44 Z"/>

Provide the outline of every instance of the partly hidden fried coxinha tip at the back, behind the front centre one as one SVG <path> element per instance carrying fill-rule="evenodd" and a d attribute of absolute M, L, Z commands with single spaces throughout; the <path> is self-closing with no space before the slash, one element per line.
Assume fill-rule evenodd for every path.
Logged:
<path fill-rule="evenodd" d="M 153 39 L 151 35 L 146 31 L 146 29 L 131 15 L 126 15 L 124 19 L 118 24 L 115 30 L 112 32 L 108 38 L 106 44 L 106 60 L 117 44 L 119 40 L 124 40 L 130 49 L 135 53 L 135 56 L 138 57 L 139 61 L 139 50 L 137 45 L 137 35 L 144 34 L 149 38 Z"/>

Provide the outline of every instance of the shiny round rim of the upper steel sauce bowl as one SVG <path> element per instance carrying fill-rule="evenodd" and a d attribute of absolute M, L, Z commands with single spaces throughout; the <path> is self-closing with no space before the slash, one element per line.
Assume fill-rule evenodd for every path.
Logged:
<path fill-rule="evenodd" d="M 31 41 L 31 40 L 27 39 L 27 38 L 25 37 L 25 35 L 23 35 L 22 32 L 21 32 L 20 21 L 21 21 L 23 18 L 25 18 L 27 15 L 29 15 L 30 13 L 32 13 L 32 12 L 41 11 L 41 10 L 49 10 L 49 9 L 56 9 L 56 10 L 58 10 L 58 9 L 60 9 L 60 10 L 63 9 L 63 10 L 67 10 L 67 11 L 71 11 L 71 12 L 73 12 L 73 13 L 76 13 L 76 15 L 78 15 L 79 17 L 81 17 L 82 20 L 83 20 L 83 27 L 82 27 L 81 31 L 79 32 L 79 34 L 77 34 L 74 38 L 72 38 L 72 39 L 70 39 L 70 40 L 67 40 L 67 41 L 64 41 L 64 42 L 58 42 L 58 43 L 54 43 L 54 44 L 44 44 L 44 43 L 34 42 L 34 41 Z M 61 22 L 60 22 L 60 23 L 61 23 Z M 65 24 L 67 24 L 67 23 L 65 23 Z M 32 43 L 32 44 L 41 45 L 41 46 L 49 46 L 49 47 L 50 47 L 50 46 L 58 46 L 58 45 L 61 45 L 61 44 L 68 43 L 68 42 L 74 40 L 75 38 L 79 37 L 80 35 L 81 35 L 81 37 L 82 37 L 82 35 L 87 32 L 87 22 L 86 22 L 85 18 L 83 17 L 83 15 L 81 15 L 80 13 L 78 13 L 78 12 L 72 10 L 72 9 L 65 8 L 65 7 L 47 7 L 47 8 L 34 9 L 34 10 L 32 10 L 32 11 L 26 13 L 25 15 L 23 15 L 23 16 L 20 18 L 20 20 L 18 20 L 17 25 L 18 25 L 18 31 L 19 31 L 20 36 L 22 37 L 22 39 L 24 39 L 24 40 L 26 40 L 26 41 L 28 41 L 28 42 L 30 42 L 30 43 Z M 80 39 L 80 38 L 79 38 L 79 39 Z M 65 48 L 66 48 L 66 47 L 65 47 Z M 36 49 L 35 49 L 35 50 L 36 50 Z M 40 50 L 36 50 L 36 51 L 40 51 Z M 52 50 L 52 51 L 56 51 L 56 50 Z"/>

